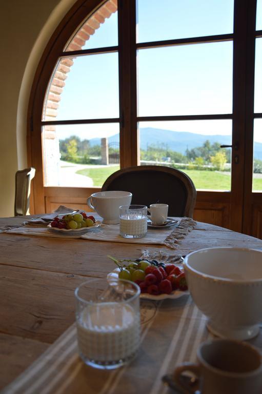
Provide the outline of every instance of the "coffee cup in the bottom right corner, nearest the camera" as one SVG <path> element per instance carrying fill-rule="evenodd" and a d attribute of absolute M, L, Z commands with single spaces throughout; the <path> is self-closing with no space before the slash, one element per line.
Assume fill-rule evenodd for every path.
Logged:
<path fill-rule="evenodd" d="M 201 394 L 261 393 L 262 358 L 249 343 L 229 339 L 204 342 L 197 350 L 197 361 L 175 369 L 174 381 L 181 392 L 195 393 L 195 387 L 182 379 L 187 371 L 197 377 Z"/>

